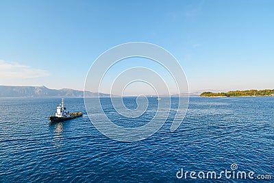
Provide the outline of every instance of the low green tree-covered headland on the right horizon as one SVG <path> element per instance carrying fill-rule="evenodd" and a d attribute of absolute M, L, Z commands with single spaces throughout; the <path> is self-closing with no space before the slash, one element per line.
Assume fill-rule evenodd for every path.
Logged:
<path fill-rule="evenodd" d="M 236 90 L 227 93 L 203 92 L 201 97 L 253 97 L 253 96 L 274 96 L 274 90 Z"/>

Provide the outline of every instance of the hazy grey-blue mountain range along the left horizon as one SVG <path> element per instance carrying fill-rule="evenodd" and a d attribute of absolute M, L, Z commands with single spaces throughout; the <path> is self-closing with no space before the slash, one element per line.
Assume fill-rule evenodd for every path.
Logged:
<path fill-rule="evenodd" d="M 110 97 L 110 94 L 85 92 L 86 97 Z M 49 89 L 46 86 L 0 86 L 0 97 L 84 97 L 81 90 Z"/>

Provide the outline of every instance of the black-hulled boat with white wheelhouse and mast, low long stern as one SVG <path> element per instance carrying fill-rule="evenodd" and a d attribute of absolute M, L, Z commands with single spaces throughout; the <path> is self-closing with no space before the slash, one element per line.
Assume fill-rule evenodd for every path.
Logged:
<path fill-rule="evenodd" d="M 74 119 L 77 117 L 82 117 L 82 112 L 69 112 L 66 110 L 66 107 L 64 106 L 64 99 L 62 98 L 62 103 L 56 108 L 55 116 L 49 117 L 49 121 L 51 123 L 53 122 L 62 122 L 69 119 Z"/>

